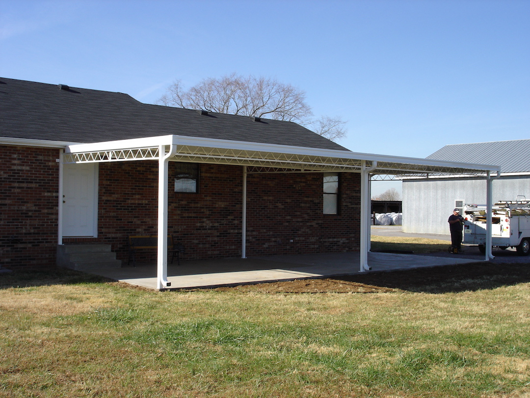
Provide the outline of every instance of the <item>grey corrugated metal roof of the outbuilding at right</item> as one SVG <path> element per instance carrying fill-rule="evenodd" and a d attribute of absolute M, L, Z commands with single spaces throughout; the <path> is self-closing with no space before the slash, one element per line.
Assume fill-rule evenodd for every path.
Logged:
<path fill-rule="evenodd" d="M 427 159 L 498 165 L 502 173 L 530 172 L 530 139 L 445 145 Z"/>

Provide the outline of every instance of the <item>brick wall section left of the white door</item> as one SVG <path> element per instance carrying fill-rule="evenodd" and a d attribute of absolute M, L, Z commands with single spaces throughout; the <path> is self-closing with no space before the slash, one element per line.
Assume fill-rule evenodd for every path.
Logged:
<path fill-rule="evenodd" d="M 0 264 L 54 267 L 58 149 L 0 145 Z"/>

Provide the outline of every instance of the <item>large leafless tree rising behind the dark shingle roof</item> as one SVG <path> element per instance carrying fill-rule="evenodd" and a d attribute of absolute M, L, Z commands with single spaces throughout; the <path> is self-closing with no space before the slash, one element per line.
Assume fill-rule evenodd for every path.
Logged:
<path fill-rule="evenodd" d="M 311 118 L 312 111 L 305 102 L 304 91 L 264 77 L 232 73 L 220 79 L 204 79 L 189 90 L 183 88 L 181 81 L 176 81 L 157 103 L 296 122 L 332 141 L 346 136 L 346 122 L 339 117 Z"/>

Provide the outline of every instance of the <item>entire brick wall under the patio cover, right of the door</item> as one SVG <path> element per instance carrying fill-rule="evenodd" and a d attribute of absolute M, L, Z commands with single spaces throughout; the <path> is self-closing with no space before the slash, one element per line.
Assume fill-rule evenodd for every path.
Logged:
<path fill-rule="evenodd" d="M 156 235 L 157 167 L 149 161 L 100 165 L 99 240 L 124 261 L 128 235 Z M 170 162 L 168 227 L 186 248 L 183 258 L 241 256 L 242 167 L 201 165 L 198 193 L 174 192 L 174 168 Z M 343 173 L 340 184 L 339 214 L 324 215 L 322 174 L 250 174 L 247 255 L 358 250 L 360 177 Z"/>

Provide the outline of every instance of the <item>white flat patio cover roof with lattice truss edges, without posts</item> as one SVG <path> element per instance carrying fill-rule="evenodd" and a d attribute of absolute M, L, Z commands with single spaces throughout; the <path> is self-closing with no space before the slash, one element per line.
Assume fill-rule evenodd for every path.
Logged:
<path fill-rule="evenodd" d="M 141 139 L 73 144 L 65 147 L 65 163 L 155 160 L 161 147 L 176 145 L 172 161 L 216 163 L 302 171 L 360 172 L 363 161 L 377 162 L 375 175 L 478 175 L 500 172 L 499 166 L 395 157 L 372 153 L 268 143 L 164 135 Z"/>

